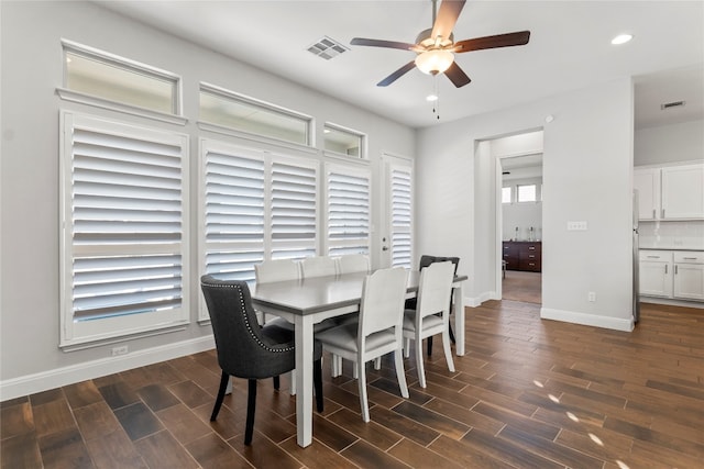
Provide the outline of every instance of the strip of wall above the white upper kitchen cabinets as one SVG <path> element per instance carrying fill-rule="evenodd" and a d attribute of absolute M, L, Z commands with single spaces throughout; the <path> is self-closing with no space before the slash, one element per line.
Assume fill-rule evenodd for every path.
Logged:
<path fill-rule="evenodd" d="M 704 158 L 704 121 L 646 127 L 635 133 L 634 165 L 667 165 Z"/>

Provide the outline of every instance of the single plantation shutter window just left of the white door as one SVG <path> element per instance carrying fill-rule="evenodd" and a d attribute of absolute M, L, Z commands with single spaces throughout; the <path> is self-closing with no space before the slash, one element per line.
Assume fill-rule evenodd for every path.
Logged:
<path fill-rule="evenodd" d="M 327 165 L 328 255 L 370 252 L 370 171 Z"/>

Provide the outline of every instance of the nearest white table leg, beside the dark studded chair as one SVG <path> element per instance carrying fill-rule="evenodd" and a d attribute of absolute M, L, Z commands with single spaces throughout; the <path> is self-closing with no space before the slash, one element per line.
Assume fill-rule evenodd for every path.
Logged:
<path fill-rule="evenodd" d="M 296 431 L 298 446 L 312 442 L 312 319 L 296 316 Z"/>

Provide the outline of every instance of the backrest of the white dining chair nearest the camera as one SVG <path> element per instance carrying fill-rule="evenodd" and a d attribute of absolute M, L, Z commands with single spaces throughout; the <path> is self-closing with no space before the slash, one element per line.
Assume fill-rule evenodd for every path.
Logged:
<path fill-rule="evenodd" d="M 402 267 L 380 269 L 364 279 L 360 336 L 396 327 L 402 333 L 408 272 Z"/>

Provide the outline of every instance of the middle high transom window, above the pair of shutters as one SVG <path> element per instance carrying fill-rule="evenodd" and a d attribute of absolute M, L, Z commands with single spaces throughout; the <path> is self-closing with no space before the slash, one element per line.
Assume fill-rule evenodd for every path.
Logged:
<path fill-rule="evenodd" d="M 211 85 L 200 85 L 202 122 L 298 145 L 311 145 L 312 118 Z"/>

